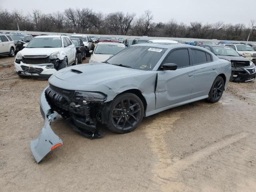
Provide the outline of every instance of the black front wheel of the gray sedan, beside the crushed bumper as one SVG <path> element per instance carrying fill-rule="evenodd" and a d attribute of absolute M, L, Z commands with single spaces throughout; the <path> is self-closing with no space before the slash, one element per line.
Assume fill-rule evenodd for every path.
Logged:
<path fill-rule="evenodd" d="M 128 133 L 137 128 L 144 115 L 144 106 L 138 96 L 125 93 L 112 101 L 108 116 L 108 128 L 116 133 Z"/>

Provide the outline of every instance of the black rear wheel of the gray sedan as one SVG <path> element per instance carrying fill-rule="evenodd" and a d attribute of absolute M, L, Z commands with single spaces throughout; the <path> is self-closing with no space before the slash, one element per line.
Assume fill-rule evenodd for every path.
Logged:
<path fill-rule="evenodd" d="M 206 101 L 210 103 L 218 102 L 223 94 L 224 86 L 225 84 L 223 78 L 220 76 L 216 77 L 209 92 L 209 97 L 206 99 Z"/>

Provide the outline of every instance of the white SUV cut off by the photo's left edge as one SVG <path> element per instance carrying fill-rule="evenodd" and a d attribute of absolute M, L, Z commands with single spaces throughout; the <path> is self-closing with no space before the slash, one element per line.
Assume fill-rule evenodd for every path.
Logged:
<path fill-rule="evenodd" d="M 8 34 L 0 34 L 0 55 L 9 55 L 14 57 L 15 45 Z"/>

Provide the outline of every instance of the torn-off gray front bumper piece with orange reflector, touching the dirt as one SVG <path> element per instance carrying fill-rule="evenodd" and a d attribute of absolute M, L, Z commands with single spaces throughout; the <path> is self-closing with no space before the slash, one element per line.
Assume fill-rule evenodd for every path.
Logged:
<path fill-rule="evenodd" d="M 63 144 L 62 140 L 50 127 L 50 123 L 54 122 L 54 119 L 58 114 L 52 111 L 50 105 L 46 101 L 44 92 L 40 99 L 40 110 L 45 120 L 44 127 L 42 128 L 40 136 L 36 140 L 30 142 L 30 148 L 37 163 L 39 163 L 51 150 L 54 150 L 56 147 Z"/>

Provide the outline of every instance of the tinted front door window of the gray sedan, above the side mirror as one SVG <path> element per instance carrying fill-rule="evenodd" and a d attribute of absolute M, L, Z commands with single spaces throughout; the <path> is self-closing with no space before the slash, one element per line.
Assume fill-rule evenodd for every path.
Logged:
<path fill-rule="evenodd" d="M 162 64 L 165 63 L 174 63 L 178 68 L 189 66 L 188 49 L 184 48 L 171 51 L 162 62 Z"/>

